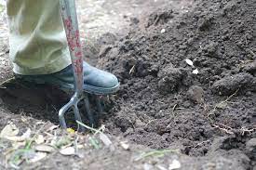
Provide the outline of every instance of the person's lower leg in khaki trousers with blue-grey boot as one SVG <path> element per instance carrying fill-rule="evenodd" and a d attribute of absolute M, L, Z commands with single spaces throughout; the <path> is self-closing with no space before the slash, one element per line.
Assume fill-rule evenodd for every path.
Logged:
<path fill-rule="evenodd" d="M 17 78 L 74 88 L 59 0 L 7 0 L 7 16 L 10 59 Z M 86 62 L 83 66 L 85 91 L 104 95 L 118 90 L 114 74 Z"/>

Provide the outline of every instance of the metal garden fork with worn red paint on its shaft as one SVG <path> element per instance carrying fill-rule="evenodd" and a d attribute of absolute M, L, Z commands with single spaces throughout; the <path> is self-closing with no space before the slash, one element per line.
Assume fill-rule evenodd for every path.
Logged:
<path fill-rule="evenodd" d="M 78 103 L 80 101 L 84 102 L 85 104 L 86 111 L 88 113 L 89 123 L 94 124 L 94 117 L 89 107 L 88 93 L 83 91 L 83 52 L 80 42 L 78 20 L 74 0 L 61 0 L 61 16 L 64 24 L 65 33 L 67 36 L 67 42 L 70 49 L 70 56 L 72 59 L 72 66 L 74 71 L 74 96 L 59 111 L 60 124 L 62 128 L 67 128 L 64 114 L 70 109 L 73 109 L 74 111 L 75 120 L 82 123 L 82 118 L 78 109 Z M 100 98 L 96 98 L 96 101 L 98 111 L 101 113 L 102 108 Z M 81 127 L 81 129 L 84 130 L 83 127 Z"/>

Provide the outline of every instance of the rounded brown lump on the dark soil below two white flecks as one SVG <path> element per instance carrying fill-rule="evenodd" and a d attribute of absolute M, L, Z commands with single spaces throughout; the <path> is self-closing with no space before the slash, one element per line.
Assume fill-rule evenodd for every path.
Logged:
<path fill-rule="evenodd" d="M 198 104 L 204 102 L 204 95 L 204 89 L 197 85 L 191 86 L 187 92 L 188 98 Z"/>

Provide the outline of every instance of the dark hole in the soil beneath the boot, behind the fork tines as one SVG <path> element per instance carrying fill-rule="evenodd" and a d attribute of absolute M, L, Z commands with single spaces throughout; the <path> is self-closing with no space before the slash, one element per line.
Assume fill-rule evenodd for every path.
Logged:
<path fill-rule="evenodd" d="M 50 121 L 53 124 L 60 124 L 58 112 L 73 95 L 47 85 L 20 85 L 15 82 L 6 86 L 7 88 L 0 89 L 2 101 L 0 105 L 15 114 L 23 114 L 46 122 Z M 89 96 L 89 103 L 92 115 L 96 115 L 95 98 Z M 88 114 L 84 106 L 83 101 L 78 103 L 82 120 L 88 124 Z M 69 127 L 77 128 L 72 109 L 66 112 L 65 121 Z M 97 127 L 99 124 L 99 121 L 96 121 L 93 126 Z"/>

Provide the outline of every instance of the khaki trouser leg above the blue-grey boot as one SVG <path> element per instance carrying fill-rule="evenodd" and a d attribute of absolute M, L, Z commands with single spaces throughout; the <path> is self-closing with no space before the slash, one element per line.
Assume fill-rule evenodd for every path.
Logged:
<path fill-rule="evenodd" d="M 71 64 L 59 0 L 7 0 L 7 16 L 15 73 L 48 74 Z"/>

